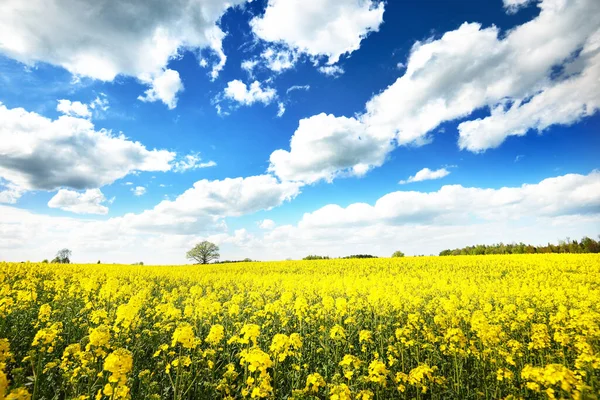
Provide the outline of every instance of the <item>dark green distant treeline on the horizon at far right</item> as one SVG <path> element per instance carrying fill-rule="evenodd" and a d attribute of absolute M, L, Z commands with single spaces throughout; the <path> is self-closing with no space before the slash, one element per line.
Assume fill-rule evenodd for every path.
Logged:
<path fill-rule="evenodd" d="M 542 254 L 542 253 L 600 253 L 600 240 L 584 237 L 580 241 L 564 240 L 558 244 L 548 243 L 546 246 L 532 246 L 525 243 L 512 244 L 478 244 L 462 249 L 443 250 L 440 256 L 475 256 L 483 254 Z"/>

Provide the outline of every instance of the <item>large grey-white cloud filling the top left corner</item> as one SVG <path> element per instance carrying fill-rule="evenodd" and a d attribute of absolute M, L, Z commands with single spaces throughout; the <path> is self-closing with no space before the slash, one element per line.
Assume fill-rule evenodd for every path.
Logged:
<path fill-rule="evenodd" d="M 0 52 L 27 65 L 58 65 L 76 76 L 154 82 L 181 51 L 212 49 L 219 58 L 211 71 L 215 78 L 226 59 L 217 22 L 243 2 L 108 0 L 98 6 L 93 0 L 6 0 L 0 2 Z"/>

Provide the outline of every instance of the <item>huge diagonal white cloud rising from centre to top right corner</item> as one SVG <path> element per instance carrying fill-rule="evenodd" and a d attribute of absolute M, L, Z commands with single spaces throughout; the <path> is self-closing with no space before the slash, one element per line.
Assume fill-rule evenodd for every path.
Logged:
<path fill-rule="evenodd" d="M 596 113 L 600 3 L 542 0 L 538 7 L 537 17 L 505 35 L 495 26 L 464 23 L 438 39 L 416 42 L 404 74 L 371 98 L 364 113 L 337 117 L 338 123 L 327 117 L 327 125 L 343 125 L 344 132 L 330 137 L 332 128 L 317 124 L 325 122 L 322 116 L 302 120 L 290 150 L 272 153 L 270 170 L 306 179 L 305 157 L 318 161 L 313 178 L 331 180 L 356 165 L 368 170 L 395 147 L 427 144 L 441 123 L 482 108 L 491 115 L 459 125 L 461 149 L 484 151 L 508 136 Z M 320 132 L 301 129 L 305 121 Z M 338 148 L 350 148 L 352 157 L 340 159 Z"/>

